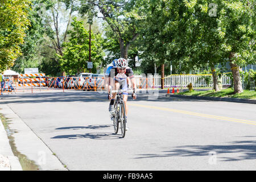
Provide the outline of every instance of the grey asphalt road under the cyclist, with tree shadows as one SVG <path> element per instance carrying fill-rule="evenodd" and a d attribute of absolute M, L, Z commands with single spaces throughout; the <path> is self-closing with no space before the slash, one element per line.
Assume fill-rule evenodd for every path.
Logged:
<path fill-rule="evenodd" d="M 49 91 L 1 102 L 69 170 L 256 169 L 254 104 L 129 96 L 130 130 L 121 138 L 114 134 L 106 94 Z"/>

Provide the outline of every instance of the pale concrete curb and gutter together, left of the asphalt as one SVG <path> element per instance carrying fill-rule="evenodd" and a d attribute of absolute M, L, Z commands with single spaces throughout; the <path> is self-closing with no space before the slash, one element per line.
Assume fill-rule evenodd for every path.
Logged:
<path fill-rule="evenodd" d="M 14 138 L 16 150 L 38 167 L 38 169 L 25 170 L 67 171 L 48 146 L 7 104 L 1 104 L 0 109 L 0 113 L 9 118 L 10 130 L 17 131 L 11 135 Z M 0 171 L 3 170 L 23 171 L 23 168 L 11 150 L 5 127 L 0 121 Z"/>

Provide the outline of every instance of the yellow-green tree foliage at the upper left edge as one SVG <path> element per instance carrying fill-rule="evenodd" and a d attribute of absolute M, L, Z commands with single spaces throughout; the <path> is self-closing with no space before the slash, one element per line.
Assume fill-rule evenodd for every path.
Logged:
<path fill-rule="evenodd" d="M 25 32 L 30 26 L 28 11 L 30 1 L 0 1 L 0 70 L 10 68 L 22 55 L 20 45 L 24 43 Z"/>

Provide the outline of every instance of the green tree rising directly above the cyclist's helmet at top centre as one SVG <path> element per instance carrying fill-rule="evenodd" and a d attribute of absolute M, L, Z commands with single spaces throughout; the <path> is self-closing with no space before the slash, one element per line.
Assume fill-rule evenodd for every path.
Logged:
<path fill-rule="evenodd" d="M 118 42 L 121 57 L 127 59 L 128 50 L 131 44 L 139 36 L 139 27 L 143 22 L 144 15 L 141 10 L 141 3 L 144 1 L 125 0 L 104 0 L 81 1 L 80 12 L 97 16 L 98 10 L 105 20 L 105 32 Z"/>

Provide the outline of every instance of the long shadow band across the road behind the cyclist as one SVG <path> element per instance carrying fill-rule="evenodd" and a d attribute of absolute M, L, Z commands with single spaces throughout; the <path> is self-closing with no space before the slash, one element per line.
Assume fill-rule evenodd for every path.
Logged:
<path fill-rule="evenodd" d="M 175 97 L 164 97 L 165 94 L 138 94 L 137 100 L 133 101 L 129 95 L 128 100 L 136 101 L 155 101 L 155 102 L 209 102 L 208 100 L 184 99 Z M 20 93 L 5 95 L 1 99 L 3 104 L 26 104 L 26 103 L 44 103 L 44 102 L 109 102 L 106 93 L 99 92 L 44 92 L 44 93 Z"/>

